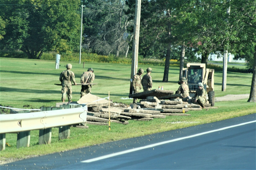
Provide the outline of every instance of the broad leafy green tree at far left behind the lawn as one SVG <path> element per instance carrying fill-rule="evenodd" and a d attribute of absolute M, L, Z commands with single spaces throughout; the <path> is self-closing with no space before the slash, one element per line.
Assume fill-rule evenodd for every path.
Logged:
<path fill-rule="evenodd" d="M 6 21 L 1 48 L 20 49 L 29 59 L 43 52 L 71 53 L 79 44 L 79 0 L 2 0 Z"/>

